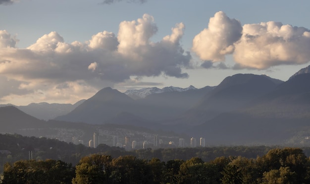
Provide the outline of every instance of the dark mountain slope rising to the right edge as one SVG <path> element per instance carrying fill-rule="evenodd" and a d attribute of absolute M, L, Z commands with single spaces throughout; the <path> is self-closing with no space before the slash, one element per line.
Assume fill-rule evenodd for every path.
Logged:
<path fill-rule="evenodd" d="M 219 114 L 189 132 L 217 144 L 299 143 L 310 135 L 310 74 L 299 74 L 251 101 Z"/>

